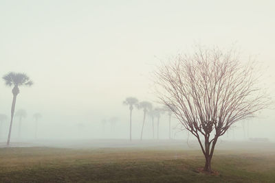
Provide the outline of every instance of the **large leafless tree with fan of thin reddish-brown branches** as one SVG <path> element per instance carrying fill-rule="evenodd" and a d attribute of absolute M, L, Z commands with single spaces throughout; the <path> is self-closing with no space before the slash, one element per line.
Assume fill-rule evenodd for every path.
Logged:
<path fill-rule="evenodd" d="M 254 70 L 234 50 L 199 47 L 155 71 L 159 100 L 197 138 L 206 159 L 204 171 L 211 172 L 219 136 L 270 103 Z"/>

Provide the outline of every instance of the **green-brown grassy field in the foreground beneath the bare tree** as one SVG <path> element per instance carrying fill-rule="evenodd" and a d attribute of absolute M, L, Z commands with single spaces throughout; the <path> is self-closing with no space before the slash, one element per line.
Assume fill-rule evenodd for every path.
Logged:
<path fill-rule="evenodd" d="M 197 169 L 199 150 L 175 148 L 0 148 L 0 182 L 275 182 L 275 153 L 218 150 Z"/>

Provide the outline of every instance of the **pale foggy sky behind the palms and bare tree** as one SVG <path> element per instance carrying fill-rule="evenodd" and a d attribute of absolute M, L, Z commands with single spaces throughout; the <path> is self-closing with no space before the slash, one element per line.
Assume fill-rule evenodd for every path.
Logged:
<path fill-rule="evenodd" d="M 245 58 L 252 55 L 265 66 L 274 97 L 274 7 L 274 1 L 1 0 L 0 75 L 24 72 L 34 81 L 17 97 L 16 110 L 28 112 L 23 138 L 34 138 L 34 112 L 43 115 L 38 138 L 128 138 L 129 107 L 122 101 L 154 101 L 154 66 L 195 44 L 235 44 Z M 11 103 L 11 88 L 1 80 L 0 113 L 10 117 Z M 111 117 L 119 118 L 115 130 L 107 123 L 103 131 L 100 121 Z M 160 124 L 160 137 L 168 138 L 167 115 Z M 141 127 L 142 110 L 134 109 L 133 138 L 140 138 Z M 15 119 L 12 139 L 17 128 Z M 246 138 L 275 140 L 274 110 L 261 112 L 249 128 Z M 239 123 L 225 138 L 242 140 L 242 130 Z M 144 138 L 151 136 L 147 120 Z"/>

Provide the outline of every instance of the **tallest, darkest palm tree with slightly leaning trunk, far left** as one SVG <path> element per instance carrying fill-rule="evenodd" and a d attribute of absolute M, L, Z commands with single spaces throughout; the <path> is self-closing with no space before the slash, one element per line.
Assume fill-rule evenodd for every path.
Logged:
<path fill-rule="evenodd" d="M 12 88 L 12 110 L 10 118 L 10 130 L 8 134 L 7 145 L 10 145 L 10 135 L 12 134 L 12 120 L 14 116 L 15 103 L 17 101 L 17 95 L 19 94 L 19 86 L 32 86 L 33 82 L 30 80 L 30 77 L 24 73 L 13 73 L 10 72 L 3 76 L 5 85 L 13 86 Z"/>

